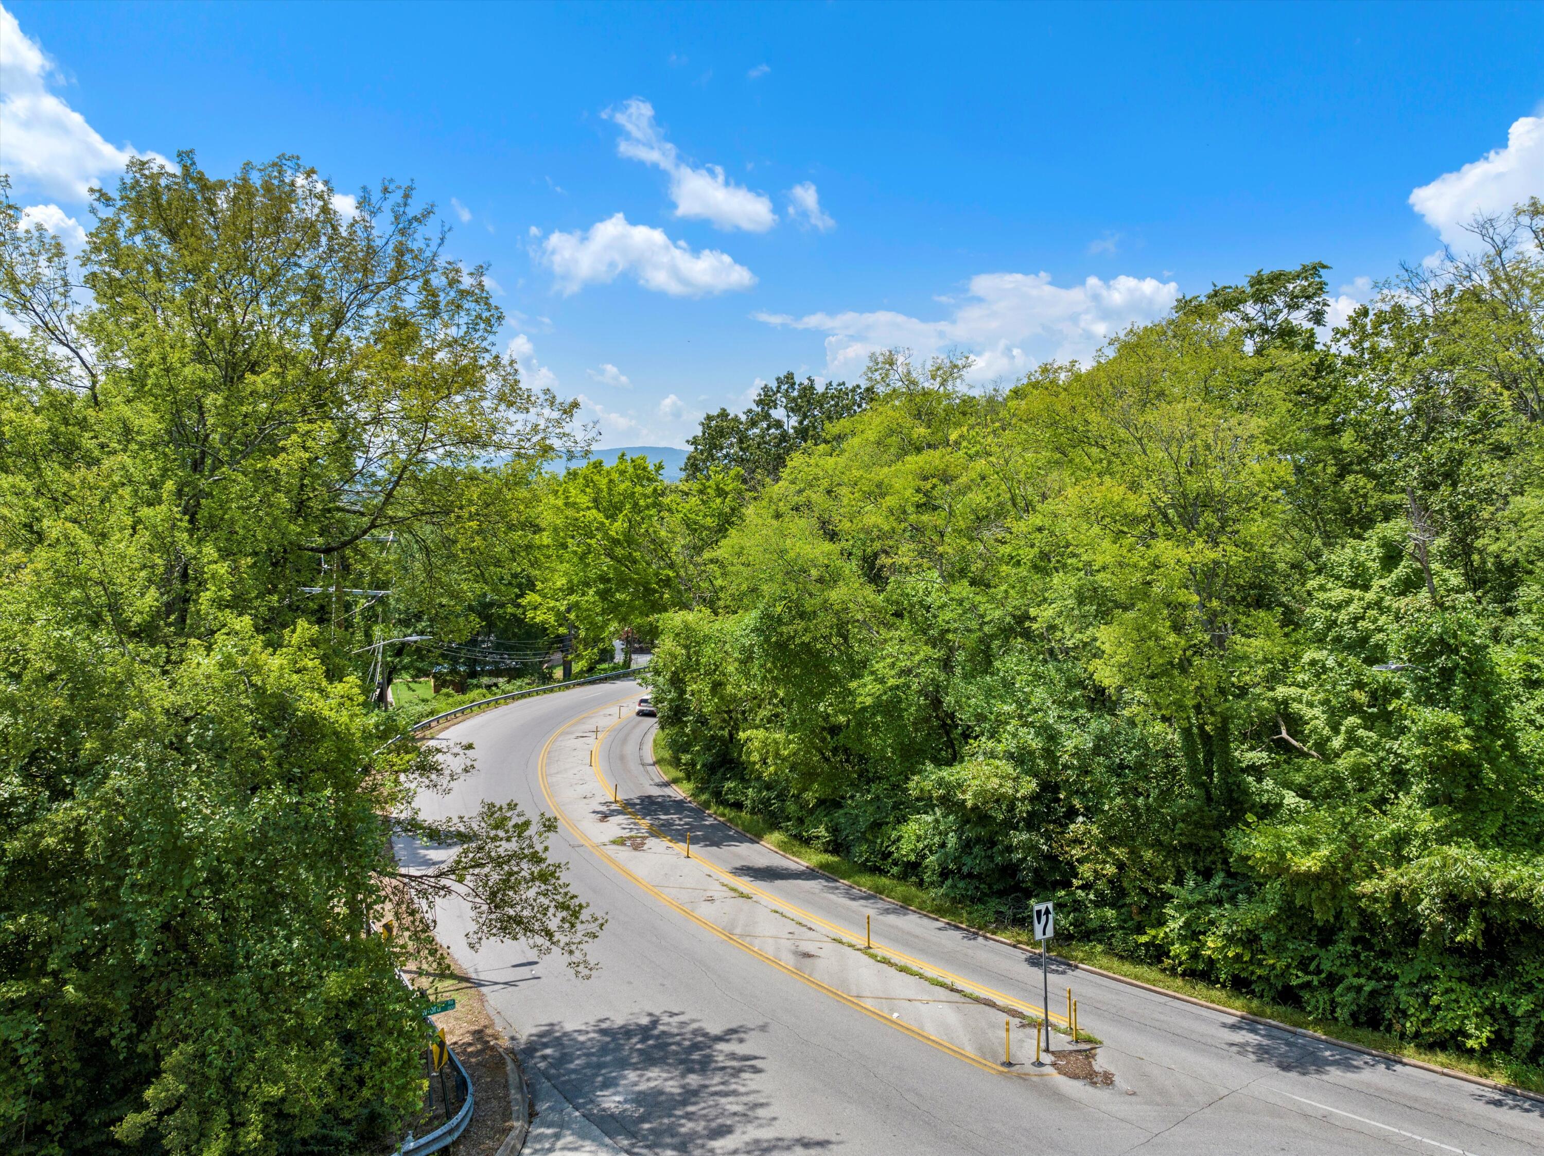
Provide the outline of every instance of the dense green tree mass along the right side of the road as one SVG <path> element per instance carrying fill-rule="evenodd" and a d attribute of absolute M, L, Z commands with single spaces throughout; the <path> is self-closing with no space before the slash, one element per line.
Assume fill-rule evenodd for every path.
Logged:
<path fill-rule="evenodd" d="M 1544 205 L 1007 390 L 877 355 L 665 617 L 682 770 L 817 846 L 1544 1063 Z"/>

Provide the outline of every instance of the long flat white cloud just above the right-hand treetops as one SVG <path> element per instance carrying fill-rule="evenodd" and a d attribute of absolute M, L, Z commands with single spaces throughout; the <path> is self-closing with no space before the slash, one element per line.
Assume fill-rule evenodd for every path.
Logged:
<path fill-rule="evenodd" d="M 1036 364 L 1087 361 L 1110 336 L 1132 324 L 1161 316 L 1175 301 L 1173 281 L 1118 276 L 1087 278 L 1062 289 L 1050 273 L 980 273 L 970 293 L 942 321 L 905 313 L 811 313 L 795 318 L 757 313 L 774 326 L 826 333 L 826 372 L 851 377 L 875 349 L 902 346 L 919 353 L 960 349 L 976 358 L 973 380 L 1022 374 Z"/>

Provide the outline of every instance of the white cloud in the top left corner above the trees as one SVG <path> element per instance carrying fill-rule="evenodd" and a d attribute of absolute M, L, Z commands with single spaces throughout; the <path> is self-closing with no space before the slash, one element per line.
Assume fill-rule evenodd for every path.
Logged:
<path fill-rule="evenodd" d="M 19 187 L 85 201 L 86 190 L 122 171 L 133 145 L 110 145 L 80 113 L 48 91 L 56 74 L 37 42 L 0 8 L 0 171 Z"/>

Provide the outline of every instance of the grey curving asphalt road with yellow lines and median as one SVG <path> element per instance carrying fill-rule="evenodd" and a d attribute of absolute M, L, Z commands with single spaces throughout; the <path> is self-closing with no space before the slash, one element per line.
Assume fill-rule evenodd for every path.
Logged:
<path fill-rule="evenodd" d="M 1544 1153 L 1536 1100 L 1056 965 L 1053 1023 L 1070 985 L 1102 1043 L 1056 1036 L 1056 1066 L 1034 1066 L 1017 1012 L 1041 1008 L 1036 960 L 704 815 L 658 776 L 639 693 L 598 684 L 476 715 L 440 739 L 472 744 L 476 770 L 423 801 L 557 813 L 554 852 L 607 918 L 601 968 L 579 980 L 519 943 L 472 952 L 466 914 L 440 912 L 531 1073 L 527 1153 Z"/>

